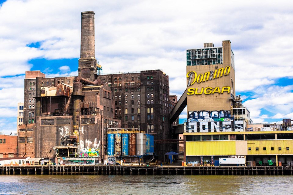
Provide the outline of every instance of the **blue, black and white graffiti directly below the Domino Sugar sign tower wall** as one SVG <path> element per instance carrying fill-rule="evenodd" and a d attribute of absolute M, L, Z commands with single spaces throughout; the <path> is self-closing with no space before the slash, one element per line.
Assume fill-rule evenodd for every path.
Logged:
<path fill-rule="evenodd" d="M 220 111 L 190 111 L 188 122 L 231 121 L 233 117 L 229 110 Z"/>

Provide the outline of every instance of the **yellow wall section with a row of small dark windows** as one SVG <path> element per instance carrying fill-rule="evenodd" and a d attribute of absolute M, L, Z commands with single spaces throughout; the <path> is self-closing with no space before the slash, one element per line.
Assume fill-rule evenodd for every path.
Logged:
<path fill-rule="evenodd" d="M 248 150 L 251 147 L 251 150 Z M 256 147 L 259 150 L 256 150 Z M 266 150 L 263 148 L 266 147 Z M 273 147 L 273 150 L 271 150 Z M 281 150 L 279 150 L 281 147 Z M 289 150 L 286 150 L 289 147 Z M 265 154 L 293 154 L 293 140 L 248 140 L 247 141 L 247 154 L 248 155 L 265 155 Z"/>

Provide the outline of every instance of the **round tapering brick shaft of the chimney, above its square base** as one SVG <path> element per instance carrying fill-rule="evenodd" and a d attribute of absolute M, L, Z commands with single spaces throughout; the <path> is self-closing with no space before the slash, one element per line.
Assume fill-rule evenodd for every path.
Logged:
<path fill-rule="evenodd" d="M 81 12 L 80 58 L 95 58 L 95 12 Z"/>

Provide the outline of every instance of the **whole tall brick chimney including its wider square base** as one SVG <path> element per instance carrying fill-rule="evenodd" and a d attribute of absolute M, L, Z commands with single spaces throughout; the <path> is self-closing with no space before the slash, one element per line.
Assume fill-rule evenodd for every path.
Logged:
<path fill-rule="evenodd" d="M 95 12 L 81 12 L 80 59 L 78 76 L 93 81 L 97 73 L 95 58 Z"/>

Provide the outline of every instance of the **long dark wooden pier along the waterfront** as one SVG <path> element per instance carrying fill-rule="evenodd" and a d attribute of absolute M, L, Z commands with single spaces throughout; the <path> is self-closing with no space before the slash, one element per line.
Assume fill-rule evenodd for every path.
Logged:
<path fill-rule="evenodd" d="M 0 175 L 292 175 L 292 166 L 183 167 L 121 165 L 0 166 Z"/>

